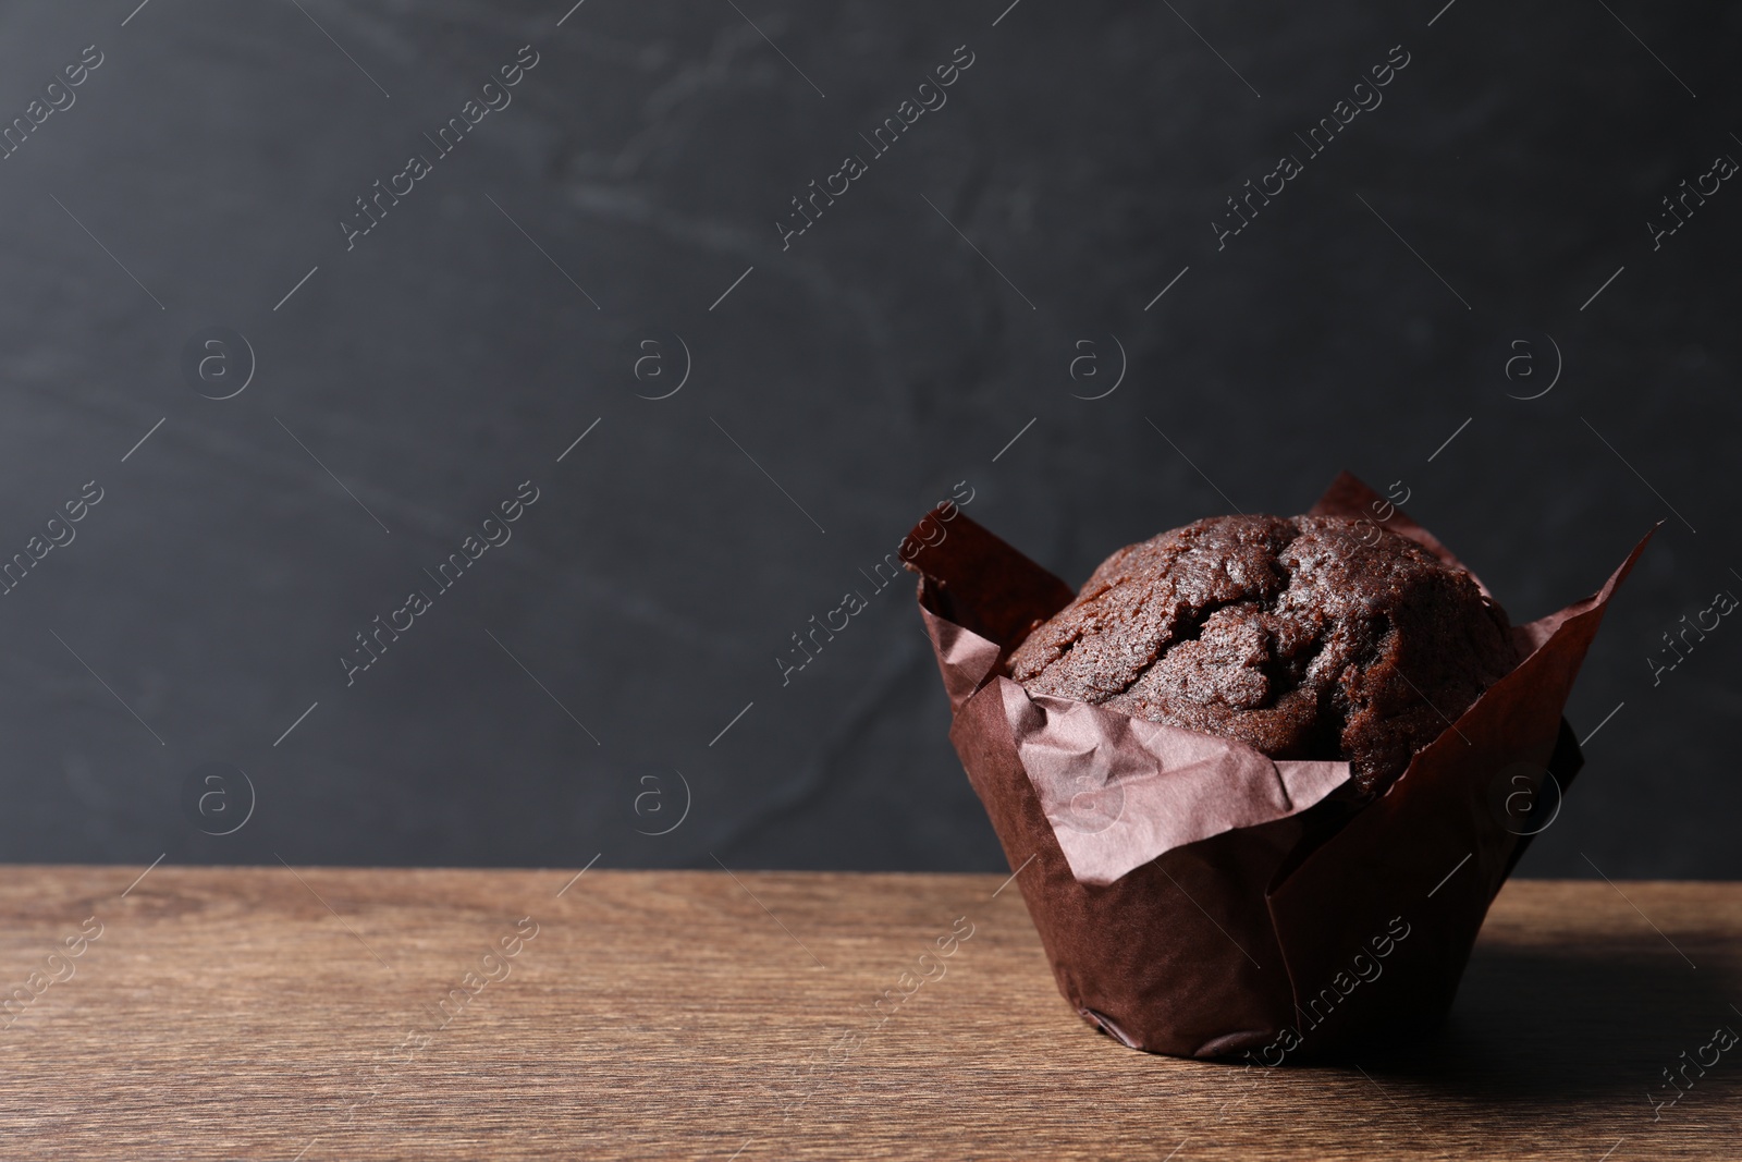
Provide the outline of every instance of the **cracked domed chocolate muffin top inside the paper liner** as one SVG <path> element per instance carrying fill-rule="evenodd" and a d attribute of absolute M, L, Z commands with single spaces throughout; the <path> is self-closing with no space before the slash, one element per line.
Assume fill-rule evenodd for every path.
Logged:
<path fill-rule="evenodd" d="M 1348 760 L 1373 794 L 1519 657 L 1505 611 L 1413 540 L 1347 517 L 1223 516 L 1120 549 L 1030 631 L 1030 693 Z"/>

